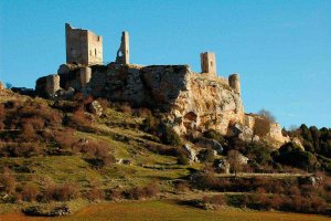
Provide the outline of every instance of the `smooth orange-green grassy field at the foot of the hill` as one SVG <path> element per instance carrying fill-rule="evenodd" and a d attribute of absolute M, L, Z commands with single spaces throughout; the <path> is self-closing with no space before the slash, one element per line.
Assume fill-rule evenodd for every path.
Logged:
<path fill-rule="evenodd" d="M 226 220 L 226 221 L 327 221 L 331 218 L 285 212 L 244 211 L 221 209 L 206 211 L 171 201 L 110 202 L 86 207 L 75 214 L 62 218 L 28 218 L 22 214 L 0 214 L 0 221 L 58 220 L 58 221 L 108 221 L 108 220 Z"/>

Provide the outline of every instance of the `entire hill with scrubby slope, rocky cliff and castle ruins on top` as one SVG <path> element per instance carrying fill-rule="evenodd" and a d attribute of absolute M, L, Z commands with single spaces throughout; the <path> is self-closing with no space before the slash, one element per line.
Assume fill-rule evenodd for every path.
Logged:
<path fill-rule="evenodd" d="M 104 64 L 100 35 L 65 30 L 56 74 L 35 90 L 0 86 L 2 213 L 57 217 L 152 199 L 330 214 L 330 128 L 287 131 L 267 110 L 245 113 L 239 74 L 218 76 L 215 53 L 200 54 L 201 73 L 137 65 L 122 32 Z"/>

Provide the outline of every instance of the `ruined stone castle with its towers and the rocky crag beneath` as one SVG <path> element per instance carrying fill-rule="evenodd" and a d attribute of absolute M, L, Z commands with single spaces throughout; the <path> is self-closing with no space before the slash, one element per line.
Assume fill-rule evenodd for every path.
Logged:
<path fill-rule="evenodd" d="M 216 129 L 227 134 L 231 126 L 244 125 L 252 131 L 255 116 L 245 115 L 238 74 L 217 75 L 216 55 L 200 54 L 201 72 L 189 65 L 136 65 L 130 63 L 129 33 L 122 32 L 114 62 L 103 64 L 103 38 L 88 30 L 66 30 L 66 64 L 57 74 L 36 81 L 40 96 L 67 98 L 75 92 L 111 102 L 158 108 L 178 134 Z M 247 120 L 249 119 L 249 120 Z M 281 127 L 275 124 L 273 137 L 282 143 Z"/>

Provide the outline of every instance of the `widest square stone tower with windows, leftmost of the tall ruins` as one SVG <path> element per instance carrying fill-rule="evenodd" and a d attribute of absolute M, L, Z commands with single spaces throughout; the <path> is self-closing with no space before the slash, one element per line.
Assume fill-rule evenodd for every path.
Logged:
<path fill-rule="evenodd" d="M 74 29 L 66 23 L 65 42 L 67 64 L 92 65 L 103 63 L 103 36 L 88 30 Z"/>

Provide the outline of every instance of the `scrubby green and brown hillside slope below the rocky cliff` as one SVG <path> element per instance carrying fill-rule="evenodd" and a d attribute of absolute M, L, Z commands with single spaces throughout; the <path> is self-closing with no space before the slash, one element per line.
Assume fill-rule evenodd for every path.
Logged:
<path fill-rule="evenodd" d="M 308 173 L 331 168 L 324 145 L 329 130 L 300 129 L 309 151 L 293 143 L 273 151 L 263 141 L 244 143 L 212 129 L 200 137 L 180 137 L 160 113 L 128 104 L 98 99 L 104 112 L 97 116 L 89 106 L 93 101 L 83 95 L 57 102 L 1 98 L 0 213 L 50 215 L 70 209 L 78 212 L 60 220 L 79 219 L 82 213 L 88 219 L 84 213 L 88 208 L 82 207 L 114 200 L 124 202 L 99 207 L 154 207 L 151 219 L 171 217 L 171 209 L 179 219 L 191 212 L 216 219 L 222 213 L 218 209 L 242 211 L 237 208 L 330 211 L 328 175 Z M 199 147 L 203 140 L 210 146 Z M 192 161 L 182 144 L 194 147 L 200 162 Z M 220 144 L 224 151 L 215 155 Z M 247 165 L 241 162 L 243 156 L 249 158 Z M 235 176 L 218 173 L 222 160 L 228 160 Z M 156 202 L 161 196 L 171 201 Z M 158 210 L 161 207 L 169 210 Z M 116 212 L 105 215 L 113 219 Z"/>

